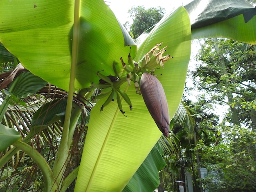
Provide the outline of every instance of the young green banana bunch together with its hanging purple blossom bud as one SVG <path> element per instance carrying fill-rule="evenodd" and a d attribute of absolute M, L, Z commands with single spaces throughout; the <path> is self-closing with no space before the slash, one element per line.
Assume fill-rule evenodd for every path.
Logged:
<path fill-rule="evenodd" d="M 142 94 L 144 102 L 146 103 L 146 106 L 148 107 L 148 110 L 155 120 L 157 126 L 165 136 L 168 136 L 168 125 L 170 121 L 167 100 L 164 94 L 164 89 L 161 88 L 161 83 L 152 75 L 154 74 L 155 69 L 159 68 L 159 66 L 164 67 L 164 63 L 168 59 L 173 58 L 170 55 L 163 56 L 164 52 L 166 51 L 165 48 L 168 46 L 160 50 L 159 47 L 161 45 L 162 42 L 156 44 L 150 51 L 148 51 L 147 54 L 145 54 L 143 58 L 141 58 L 141 60 L 139 60 L 138 63 L 132 60 L 130 53 L 128 54 L 128 64 L 124 63 L 124 60 L 121 57 L 120 60 L 123 66 L 123 70 L 121 72 L 117 71 L 117 65 L 119 64 L 113 63 L 113 69 L 116 76 L 105 76 L 101 74 L 100 71 L 97 72 L 100 80 L 99 83 L 92 83 L 92 88 L 94 87 L 100 91 L 99 94 L 94 96 L 93 99 L 107 97 L 107 100 L 101 106 L 100 113 L 111 101 L 117 100 L 119 110 L 122 114 L 124 114 L 125 112 L 122 108 L 121 97 L 124 98 L 126 103 L 130 106 L 130 110 L 132 110 L 130 98 L 126 92 L 120 89 L 120 86 L 125 82 L 128 82 L 128 85 L 131 85 L 130 81 L 133 81 L 136 93 Z M 163 107 L 165 108 L 163 109 Z M 161 110 L 162 114 L 160 113 L 159 116 L 158 114 Z"/>

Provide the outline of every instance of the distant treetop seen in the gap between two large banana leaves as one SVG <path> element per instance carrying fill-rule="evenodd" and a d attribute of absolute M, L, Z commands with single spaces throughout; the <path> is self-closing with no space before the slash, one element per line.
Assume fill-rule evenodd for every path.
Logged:
<path fill-rule="evenodd" d="M 157 24 L 164 16 L 164 8 L 151 7 L 145 9 L 144 6 L 132 7 L 128 13 L 132 19 L 132 24 L 125 24 L 126 29 L 130 29 L 133 38 L 138 38 L 144 31 Z"/>

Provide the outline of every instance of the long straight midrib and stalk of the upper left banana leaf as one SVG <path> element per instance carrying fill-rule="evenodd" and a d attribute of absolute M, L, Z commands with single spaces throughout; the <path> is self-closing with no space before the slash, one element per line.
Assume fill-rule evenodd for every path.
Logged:
<path fill-rule="evenodd" d="M 74 82 L 76 75 L 76 61 L 77 61 L 77 50 L 78 50 L 78 35 L 79 35 L 79 9 L 80 0 L 75 0 L 74 2 L 74 28 L 73 28 L 73 42 L 72 42 L 72 60 L 71 60 L 71 70 L 70 70 L 70 83 L 67 97 L 67 107 L 65 113 L 65 121 L 63 125 L 63 132 L 61 136 L 61 143 L 58 148 L 57 157 L 54 161 L 53 174 L 56 178 L 57 183 L 61 186 L 63 180 L 63 174 L 68 162 L 68 152 L 69 152 L 69 127 L 70 118 L 72 112 L 72 102 L 74 93 Z"/>

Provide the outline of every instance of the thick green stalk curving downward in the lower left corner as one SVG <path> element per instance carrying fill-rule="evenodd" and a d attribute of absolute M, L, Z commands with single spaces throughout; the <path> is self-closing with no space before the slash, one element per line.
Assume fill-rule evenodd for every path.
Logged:
<path fill-rule="evenodd" d="M 26 154 L 28 154 L 33 159 L 33 161 L 35 161 L 35 163 L 38 165 L 39 169 L 43 173 L 43 178 L 45 183 L 44 191 L 49 192 L 49 191 L 58 190 L 58 185 L 55 182 L 55 178 L 54 178 L 54 175 L 52 174 L 52 170 L 40 153 L 38 153 L 33 147 L 31 147 L 27 143 L 24 143 L 19 140 L 13 143 L 13 145 L 18 149 L 24 151 Z"/>

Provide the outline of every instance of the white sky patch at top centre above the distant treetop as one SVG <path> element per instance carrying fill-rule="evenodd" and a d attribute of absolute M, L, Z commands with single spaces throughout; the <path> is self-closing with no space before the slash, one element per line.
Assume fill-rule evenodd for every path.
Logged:
<path fill-rule="evenodd" d="M 121 24 L 124 24 L 129 20 L 128 9 L 133 6 L 137 7 L 139 5 L 144 6 L 145 9 L 150 7 L 163 7 L 168 13 L 174 7 L 182 6 L 182 4 L 186 4 L 191 0 L 105 0 L 106 4 L 110 5 L 109 7 L 115 13 L 118 20 Z"/>

